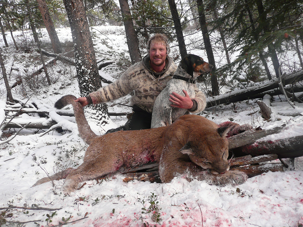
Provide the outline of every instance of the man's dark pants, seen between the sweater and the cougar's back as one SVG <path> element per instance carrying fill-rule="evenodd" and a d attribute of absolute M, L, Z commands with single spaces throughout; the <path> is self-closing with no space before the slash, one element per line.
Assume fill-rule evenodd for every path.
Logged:
<path fill-rule="evenodd" d="M 133 106 L 132 117 L 128 119 L 124 126 L 108 130 L 107 133 L 117 132 L 121 130 L 141 130 L 151 128 L 151 113 L 142 110 L 140 107 Z"/>

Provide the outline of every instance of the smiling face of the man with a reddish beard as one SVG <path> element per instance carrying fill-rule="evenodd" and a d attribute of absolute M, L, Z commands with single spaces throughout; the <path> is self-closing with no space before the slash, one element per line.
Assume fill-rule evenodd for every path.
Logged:
<path fill-rule="evenodd" d="M 149 58 L 151 60 L 151 67 L 165 67 L 166 47 L 164 44 L 151 44 L 149 48 Z M 155 70 L 155 68 L 154 68 Z"/>

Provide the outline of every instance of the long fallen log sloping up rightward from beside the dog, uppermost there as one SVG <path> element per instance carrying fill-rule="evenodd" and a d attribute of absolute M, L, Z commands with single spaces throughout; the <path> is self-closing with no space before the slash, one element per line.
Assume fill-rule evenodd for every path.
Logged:
<path fill-rule="evenodd" d="M 285 75 L 282 78 L 283 84 L 285 85 L 292 84 L 302 80 L 303 80 L 303 70 L 293 74 Z M 229 104 L 229 103 L 251 99 L 256 94 L 278 88 L 279 87 L 278 83 L 279 83 L 278 79 L 273 79 L 263 84 L 258 84 L 256 86 L 234 90 L 226 94 L 210 97 L 207 100 L 207 107 L 209 108 L 219 104 Z"/>

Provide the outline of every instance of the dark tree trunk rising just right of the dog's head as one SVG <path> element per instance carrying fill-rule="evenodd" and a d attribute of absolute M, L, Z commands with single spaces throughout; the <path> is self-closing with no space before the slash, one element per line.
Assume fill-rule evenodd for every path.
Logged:
<path fill-rule="evenodd" d="M 199 17 L 200 17 L 200 26 L 201 26 L 201 31 L 203 35 L 203 41 L 205 45 L 205 50 L 208 58 L 208 63 L 213 65 L 213 68 L 211 70 L 211 93 L 212 95 L 218 95 L 219 94 L 219 84 L 218 84 L 218 78 L 217 78 L 217 73 L 216 73 L 216 65 L 215 65 L 215 57 L 214 53 L 212 52 L 211 48 L 211 42 L 208 34 L 208 29 L 206 25 L 206 18 L 205 18 L 205 11 L 204 11 L 204 5 L 203 5 L 203 0 L 197 0 L 198 4 L 198 12 L 199 12 Z"/>

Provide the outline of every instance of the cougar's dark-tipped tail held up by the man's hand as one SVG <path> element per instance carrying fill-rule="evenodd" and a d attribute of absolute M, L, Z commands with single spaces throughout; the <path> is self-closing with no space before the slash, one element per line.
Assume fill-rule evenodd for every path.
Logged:
<path fill-rule="evenodd" d="M 97 137 L 97 135 L 92 131 L 91 127 L 89 127 L 87 120 L 84 116 L 83 107 L 79 102 L 74 101 L 76 99 L 77 98 L 73 95 L 65 95 L 55 103 L 55 108 L 62 109 L 68 104 L 72 104 L 79 134 L 81 138 L 85 141 L 85 143 L 89 145 L 91 144 L 92 140 Z"/>

